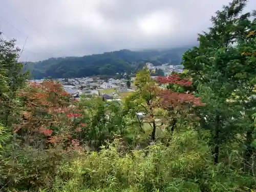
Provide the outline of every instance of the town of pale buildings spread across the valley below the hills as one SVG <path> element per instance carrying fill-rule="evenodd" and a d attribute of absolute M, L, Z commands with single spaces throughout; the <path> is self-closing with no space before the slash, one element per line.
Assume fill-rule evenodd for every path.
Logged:
<path fill-rule="evenodd" d="M 169 65 L 165 63 L 161 66 L 154 66 L 152 63 L 147 62 L 146 67 L 154 72 L 155 70 L 162 70 L 164 76 L 176 72 L 182 73 L 182 65 Z M 124 73 L 123 76 L 126 74 Z M 157 76 L 152 76 L 156 79 Z M 30 81 L 42 82 L 45 79 L 33 79 Z M 82 77 L 82 78 L 58 78 L 56 79 L 63 85 L 63 88 L 70 93 L 75 99 L 79 99 L 81 95 L 86 96 L 101 96 L 108 101 L 121 101 L 122 98 L 130 95 L 135 91 L 133 82 L 135 77 L 131 77 L 129 80 L 120 78 L 109 78 L 108 80 L 100 79 L 100 77 Z M 130 81 L 130 83 L 127 83 Z"/>

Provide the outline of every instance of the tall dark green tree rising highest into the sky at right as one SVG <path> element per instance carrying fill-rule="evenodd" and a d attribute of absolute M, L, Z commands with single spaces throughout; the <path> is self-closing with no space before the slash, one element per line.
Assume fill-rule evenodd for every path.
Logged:
<path fill-rule="evenodd" d="M 237 75 L 244 69 L 244 57 L 234 43 L 244 41 L 250 25 L 250 14 L 241 13 L 246 2 L 234 0 L 222 11 L 217 11 L 211 18 L 209 32 L 199 34 L 199 47 L 183 55 L 183 65 L 193 77 L 197 94 L 207 103 L 198 115 L 202 120 L 207 116 L 203 124 L 211 129 L 215 163 L 219 160 L 221 144 L 232 139 L 238 131 L 234 129 L 233 119 L 239 117 L 240 112 L 227 99 L 238 89 Z"/>

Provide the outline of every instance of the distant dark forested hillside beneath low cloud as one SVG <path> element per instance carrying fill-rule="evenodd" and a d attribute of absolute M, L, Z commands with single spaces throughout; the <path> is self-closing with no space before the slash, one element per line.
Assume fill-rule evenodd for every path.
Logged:
<path fill-rule="evenodd" d="M 174 48 L 168 50 L 130 51 L 120 50 L 93 54 L 83 57 L 49 58 L 39 62 L 27 62 L 25 70 L 29 70 L 35 79 L 52 77 L 83 77 L 94 75 L 115 75 L 116 73 L 135 73 L 145 62 L 155 66 L 162 63 L 179 65 L 182 54 L 188 49 Z"/>

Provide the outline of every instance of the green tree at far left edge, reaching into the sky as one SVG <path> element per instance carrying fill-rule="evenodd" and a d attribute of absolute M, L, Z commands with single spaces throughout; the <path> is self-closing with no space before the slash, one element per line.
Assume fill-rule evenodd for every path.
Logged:
<path fill-rule="evenodd" d="M 20 49 L 15 47 L 15 39 L 8 41 L 0 37 L 0 118 L 5 126 L 9 125 L 9 119 L 15 110 L 17 92 L 25 86 L 28 77 L 28 73 L 23 72 L 23 63 L 17 61 L 19 52 Z"/>

